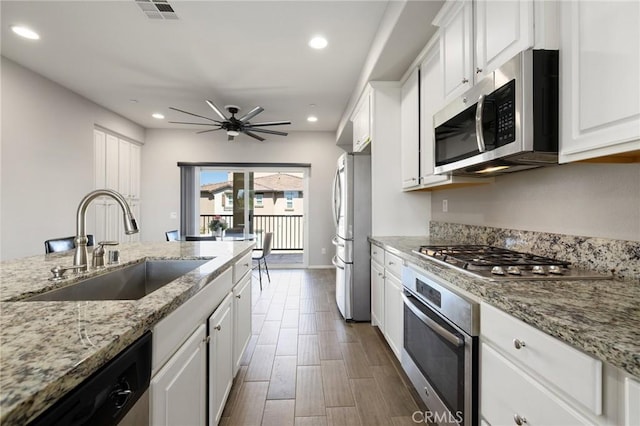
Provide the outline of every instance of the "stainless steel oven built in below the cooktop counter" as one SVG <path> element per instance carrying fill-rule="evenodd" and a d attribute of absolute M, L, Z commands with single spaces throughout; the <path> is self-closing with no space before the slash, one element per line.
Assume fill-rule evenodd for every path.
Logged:
<path fill-rule="evenodd" d="M 402 366 L 440 425 L 478 423 L 479 305 L 405 267 Z"/>

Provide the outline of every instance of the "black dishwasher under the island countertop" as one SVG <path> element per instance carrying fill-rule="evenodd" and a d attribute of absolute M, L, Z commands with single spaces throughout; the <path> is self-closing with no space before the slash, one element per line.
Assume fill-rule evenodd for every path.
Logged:
<path fill-rule="evenodd" d="M 148 425 L 151 332 L 120 352 L 31 425 Z"/>

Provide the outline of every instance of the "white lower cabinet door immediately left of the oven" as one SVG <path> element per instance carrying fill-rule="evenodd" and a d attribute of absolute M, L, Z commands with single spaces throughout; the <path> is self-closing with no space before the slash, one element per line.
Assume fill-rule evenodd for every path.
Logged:
<path fill-rule="evenodd" d="M 404 336 L 402 282 L 391 274 L 384 281 L 384 329 L 391 350 L 400 360 Z"/>

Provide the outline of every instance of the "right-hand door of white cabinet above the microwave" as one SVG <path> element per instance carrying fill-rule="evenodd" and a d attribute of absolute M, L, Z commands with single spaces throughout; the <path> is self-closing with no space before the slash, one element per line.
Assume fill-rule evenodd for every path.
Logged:
<path fill-rule="evenodd" d="M 533 1 L 476 0 L 476 80 L 533 46 Z"/>

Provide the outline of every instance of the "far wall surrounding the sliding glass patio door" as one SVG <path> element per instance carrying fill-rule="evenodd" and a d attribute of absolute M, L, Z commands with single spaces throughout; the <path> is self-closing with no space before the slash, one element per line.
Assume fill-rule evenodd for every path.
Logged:
<path fill-rule="evenodd" d="M 310 163 L 309 192 L 305 193 L 309 197 L 309 265 L 330 265 L 334 235 L 331 184 L 341 153 L 331 132 L 291 132 L 265 142 L 240 136 L 228 142 L 223 133 L 149 129 L 142 155 L 142 240 L 160 241 L 165 231 L 179 228 L 178 162 Z M 178 218 L 171 219 L 171 212 L 178 213 Z"/>

